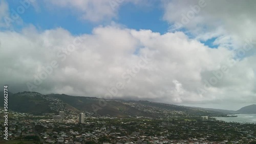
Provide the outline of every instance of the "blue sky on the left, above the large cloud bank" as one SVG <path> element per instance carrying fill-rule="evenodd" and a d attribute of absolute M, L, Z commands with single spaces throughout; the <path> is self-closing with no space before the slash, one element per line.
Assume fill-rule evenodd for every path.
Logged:
<path fill-rule="evenodd" d="M 20 6 L 18 1 L 10 1 L 8 4 L 10 10 L 15 10 Z M 92 29 L 97 26 L 90 21 L 79 20 L 76 16 L 69 13 L 68 10 L 58 9 L 58 11 L 55 12 L 43 6 L 41 6 L 39 10 L 36 10 L 34 7 L 29 7 L 24 14 L 20 14 L 20 17 L 23 19 L 24 26 L 32 24 L 38 30 L 49 30 L 61 27 L 74 35 L 91 33 Z M 19 25 L 15 25 L 15 27 L 20 28 Z"/>

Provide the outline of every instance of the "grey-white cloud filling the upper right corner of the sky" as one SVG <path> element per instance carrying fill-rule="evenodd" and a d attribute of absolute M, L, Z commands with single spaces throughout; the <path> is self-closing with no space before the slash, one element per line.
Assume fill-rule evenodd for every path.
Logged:
<path fill-rule="evenodd" d="M 241 41 L 256 36 L 255 4 L 253 0 L 168 1 L 163 18 L 172 25 L 171 30 L 185 28 L 200 40 L 218 38 L 215 44 L 238 48 Z"/>

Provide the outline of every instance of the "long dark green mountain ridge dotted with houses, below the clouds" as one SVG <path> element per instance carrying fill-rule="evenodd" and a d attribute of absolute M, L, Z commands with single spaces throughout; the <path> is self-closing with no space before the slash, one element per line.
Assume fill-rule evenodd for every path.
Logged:
<path fill-rule="evenodd" d="M 100 101 L 105 101 L 106 105 L 100 107 Z M 99 109 L 95 111 L 93 105 L 98 106 Z M 81 97 L 53 93 L 41 94 L 29 91 L 10 94 L 9 109 L 36 115 L 68 111 L 73 114 L 88 112 L 96 115 L 110 115 L 116 117 L 226 116 L 226 114 L 230 114 L 228 111 L 220 111 L 219 109 L 178 106 L 150 101 L 103 100 L 96 97 Z"/>

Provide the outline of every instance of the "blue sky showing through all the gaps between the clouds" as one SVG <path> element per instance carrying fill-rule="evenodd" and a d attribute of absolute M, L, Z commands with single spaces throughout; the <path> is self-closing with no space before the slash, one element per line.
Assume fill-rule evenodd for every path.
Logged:
<path fill-rule="evenodd" d="M 35 26 L 39 31 L 50 30 L 55 28 L 63 28 L 73 35 L 91 34 L 92 30 L 98 26 L 110 25 L 111 22 L 118 23 L 129 29 L 145 29 L 153 32 L 164 34 L 168 32 L 170 23 L 163 19 L 164 9 L 159 1 L 154 1 L 150 6 L 135 5 L 133 3 L 124 3 L 119 6 L 117 15 L 110 19 L 103 19 L 97 22 L 87 19 L 81 19 L 78 15 L 69 9 L 57 7 L 49 7 L 42 1 L 36 1 L 37 7 L 29 7 L 25 13 L 20 14 L 23 25 L 20 23 L 12 23 L 14 30 L 19 31 L 28 25 Z M 8 1 L 9 10 L 15 10 L 21 4 L 19 1 Z M 179 31 L 187 32 L 186 29 Z M 195 36 L 186 33 L 188 37 Z M 212 44 L 216 38 L 206 41 L 200 41 L 205 45 L 216 48 L 218 45 Z"/>

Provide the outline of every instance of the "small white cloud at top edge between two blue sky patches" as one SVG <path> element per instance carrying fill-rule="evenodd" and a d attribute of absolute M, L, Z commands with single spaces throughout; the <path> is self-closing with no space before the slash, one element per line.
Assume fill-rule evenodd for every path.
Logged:
<path fill-rule="evenodd" d="M 120 7 L 127 3 L 132 3 L 140 8 L 154 6 L 153 2 L 148 0 L 45 0 L 45 3 L 49 8 L 54 10 L 56 8 L 68 8 L 70 9 L 69 12 L 78 18 L 92 22 L 110 21 L 113 18 L 117 19 Z"/>

